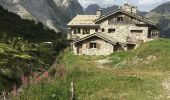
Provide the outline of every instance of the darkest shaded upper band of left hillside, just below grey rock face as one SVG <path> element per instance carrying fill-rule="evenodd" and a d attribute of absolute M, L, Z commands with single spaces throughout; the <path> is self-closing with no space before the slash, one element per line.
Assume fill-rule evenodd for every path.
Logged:
<path fill-rule="evenodd" d="M 51 41 L 57 38 L 57 34 L 43 26 L 30 20 L 21 19 L 13 13 L 9 13 L 0 7 L 0 38 L 4 33 L 8 38 L 22 37 L 30 42 Z"/>

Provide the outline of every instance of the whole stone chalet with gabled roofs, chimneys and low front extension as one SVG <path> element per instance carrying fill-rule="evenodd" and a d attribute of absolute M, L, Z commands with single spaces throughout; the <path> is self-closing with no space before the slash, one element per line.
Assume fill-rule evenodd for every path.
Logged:
<path fill-rule="evenodd" d="M 68 23 L 68 39 L 76 55 L 109 55 L 135 49 L 158 38 L 154 22 L 137 15 L 137 7 L 125 3 L 106 15 L 77 15 Z"/>

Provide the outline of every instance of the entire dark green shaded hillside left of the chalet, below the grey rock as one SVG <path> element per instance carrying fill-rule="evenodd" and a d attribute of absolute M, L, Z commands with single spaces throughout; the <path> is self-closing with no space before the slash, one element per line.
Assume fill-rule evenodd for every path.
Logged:
<path fill-rule="evenodd" d="M 65 36 L 0 7 L 0 94 L 18 86 L 22 74 L 48 69 L 66 46 Z M 44 44 L 45 42 L 45 44 Z M 0 98 L 1 99 L 1 98 Z"/>

